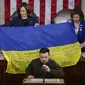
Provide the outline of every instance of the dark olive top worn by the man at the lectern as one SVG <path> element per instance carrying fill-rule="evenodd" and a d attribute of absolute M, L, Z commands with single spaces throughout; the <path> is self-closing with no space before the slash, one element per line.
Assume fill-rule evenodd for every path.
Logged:
<path fill-rule="evenodd" d="M 42 65 L 39 58 L 32 60 L 26 69 L 27 76 L 33 75 L 35 78 L 60 78 L 64 76 L 62 68 L 53 60 L 50 59 L 46 64 L 49 66 L 50 72 L 42 70 Z"/>

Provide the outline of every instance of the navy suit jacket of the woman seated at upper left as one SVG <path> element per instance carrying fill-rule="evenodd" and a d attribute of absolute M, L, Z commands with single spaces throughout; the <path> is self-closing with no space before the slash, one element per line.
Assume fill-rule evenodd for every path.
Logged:
<path fill-rule="evenodd" d="M 38 23 L 37 18 L 35 16 L 29 16 L 26 22 L 28 26 L 34 26 L 35 23 Z M 15 17 L 5 26 L 23 27 L 24 23 L 21 17 Z"/>

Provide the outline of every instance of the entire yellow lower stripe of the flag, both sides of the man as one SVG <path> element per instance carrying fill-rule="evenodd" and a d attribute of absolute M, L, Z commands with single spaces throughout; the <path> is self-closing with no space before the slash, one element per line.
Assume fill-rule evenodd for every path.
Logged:
<path fill-rule="evenodd" d="M 64 46 L 50 47 L 51 59 L 61 67 L 75 65 L 81 56 L 80 44 L 74 43 Z M 8 64 L 6 72 L 11 74 L 25 73 L 25 69 L 32 59 L 39 57 L 38 50 L 2 51 Z"/>

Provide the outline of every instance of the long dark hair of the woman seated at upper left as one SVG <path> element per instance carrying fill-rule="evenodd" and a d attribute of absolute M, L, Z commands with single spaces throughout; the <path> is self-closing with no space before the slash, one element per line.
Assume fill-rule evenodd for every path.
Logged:
<path fill-rule="evenodd" d="M 31 15 L 31 9 L 30 7 L 28 6 L 28 4 L 26 2 L 22 2 L 19 6 L 19 8 L 17 9 L 17 12 L 18 12 L 18 16 L 21 17 L 20 15 L 20 9 L 21 7 L 24 7 L 26 9 L 26 12 L 27 12 L 27 16 L 30 16 Z"/>

